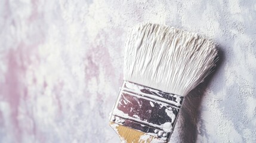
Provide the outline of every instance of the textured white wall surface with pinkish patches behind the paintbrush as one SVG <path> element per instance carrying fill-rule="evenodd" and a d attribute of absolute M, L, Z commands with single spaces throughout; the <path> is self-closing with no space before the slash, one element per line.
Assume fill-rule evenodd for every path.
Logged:
<path fill-rule="evenodd" d="M 171 142 L 256 142 L 256 1 L 0 1 L 0 142 L 119 142 L 124 43 L 150 21 L 218 44 Z"/>

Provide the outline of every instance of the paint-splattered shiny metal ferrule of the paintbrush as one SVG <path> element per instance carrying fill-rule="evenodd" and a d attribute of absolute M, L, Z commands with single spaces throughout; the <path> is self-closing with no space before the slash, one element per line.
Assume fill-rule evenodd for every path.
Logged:
<path fill-rule="evenodd" d="M 171 137 L 183 100 L 180 95 L 124 80 L 110 122 L 166 141 Z"/>

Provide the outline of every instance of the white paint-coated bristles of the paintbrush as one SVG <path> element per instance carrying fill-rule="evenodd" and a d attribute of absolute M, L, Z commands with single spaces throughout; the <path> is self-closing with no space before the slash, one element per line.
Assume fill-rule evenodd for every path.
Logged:
<path fill-rule="evenodd" d="M 215 44 L 196 33 L 141 24 L 125 44 L 124 80 L 186 96 L 215 66 Z"/>

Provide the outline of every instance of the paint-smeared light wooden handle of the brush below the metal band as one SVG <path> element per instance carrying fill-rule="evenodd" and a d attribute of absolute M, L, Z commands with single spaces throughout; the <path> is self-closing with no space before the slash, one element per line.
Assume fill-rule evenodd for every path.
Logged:
<path fill-rule="evenodd" d="M 125 143 L 166 143 L 155 136 L 147 135 L 146 133 L 140 132 L 128 128 L 126 126 L 118 125 L 114 122 L 110 122 L 110 126 L 118 133 L 121 142 Z"/>

